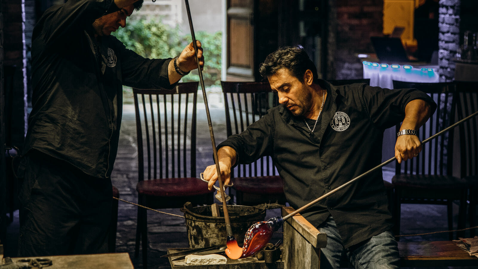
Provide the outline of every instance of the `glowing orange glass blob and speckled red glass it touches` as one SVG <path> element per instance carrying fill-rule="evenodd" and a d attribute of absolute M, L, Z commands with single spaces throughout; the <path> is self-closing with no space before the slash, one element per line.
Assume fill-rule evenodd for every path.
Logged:
<path fill-rule="evenodd" d="M 247 258 L 256 254 L 269 243 L 272 234 L 282 226 L 283 222 L 282 217 L 275 217 L 268 221 L 252 224 L 247 230 L 242 249 L 234 237 L 228 236 L 226 254 L 231 259 Z"/>

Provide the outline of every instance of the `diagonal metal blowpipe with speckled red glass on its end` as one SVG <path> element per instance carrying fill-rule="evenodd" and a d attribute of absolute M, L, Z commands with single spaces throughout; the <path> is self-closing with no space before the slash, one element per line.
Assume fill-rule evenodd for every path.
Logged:
<path fill-rule="evenodd" d="M 442 131 L 424 139 L 424 141 L 422 141 L 422 145 L 429 142 L 430 140 L 436 138 L 437 136 L 439 136 L 441 134 L 444 134 L 445 132 L 448 132 L 450 129 L 455 128 L 459 124 L 469 120 L 470 118 L 472 118 L 476 115 L 478 115 L 478 111 L 472 113 L 471 115 L 467 116 L 466 118 L 464 118 L 464 119 L 462 119 L 462 120 L 460 120 L 456 123 L 453 123 L 452 125 L 446 127 Z M 347 187 L 348 185 L 352 184 L 353 182 L 369 175 L 370 173 L 375 172 L 375 170 L 377 170 L 379 168 L 382 168 L 383 166 L 391 163 L 393 160 L 395 160 L 395 157 L 391 157 L 390 159 L 384 161 L 380 165 L 378 165 L 374 168 L 371 168 L 367 172 L 357 176 L 354 179 L 349 180 L 348 182 L 340 185 L 339 187 L 337 187 L 333 191 L 327 192 L 326 194 L 324 194 L 324 195 L 320 196 L 319 198 L 315 199 L 314 201 L 307 203 L 306 205 L 300 207 L 299 209 L 295 210 L 294 212 L 292 212 L 292 213 L 290 213 L 290 214 L 288 214 L 284 217 L 278 216 L 278 217 L 271 218 L 268 221 L 263 221 L 263 222 L 258 222 L 256 224 L 252 224 L 252 226 L 250 226 L 249 230 L 246 232 L 246 236 L 244 238 L 244 245 L 242 247 L 242 253 L 241 253 L 241 256 L 239 258 L 247 258 L 251 255 L 256 254 L 259 250 L 261 250 L 263 247 L 265 247 L 265 245 L 271 239 L 272 234 L 282 226 L 282 224 L 284 223 L 284 220 L 294 216 L 295 214 L 303 212 L 308 207 L 310 207 L 310 206 L 314 205 L 315 203 L 327 198 L 328 196 L 336 193 L 337 191 L 342 190 L 343 188 Z"/>

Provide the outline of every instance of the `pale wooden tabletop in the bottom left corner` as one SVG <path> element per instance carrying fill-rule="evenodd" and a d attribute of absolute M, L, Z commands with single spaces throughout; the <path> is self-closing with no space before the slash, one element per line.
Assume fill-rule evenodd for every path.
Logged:
<path fill-rule="evenodd" d="M 134 269 L 128 253 L 104 253 L 87 255 L 64 255 L 46 257 L 24 257 L 24 258 L 48 258 L 53 264 L 45 269 Z M 24 258 L 11 258 L 13 262 Z"/>

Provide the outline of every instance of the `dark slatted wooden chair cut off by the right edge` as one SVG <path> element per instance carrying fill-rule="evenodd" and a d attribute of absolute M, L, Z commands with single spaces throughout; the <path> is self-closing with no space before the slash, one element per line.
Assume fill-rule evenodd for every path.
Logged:
<path fill-rule="evenodd" d="M 459 121 L 468 115 L 478 111 L 478 82 L 455 81 L 455 119 Z M 459 125 L 460 145 L 460 177 L 469 185 L 468 220 L 470 227 L 477 225 L 476 211 L 478 202 L 478 117 L 474 117 Z M 456 133 L 456 132 L 455 132 Z M 474 237 L 475 229 L 470 230 L 470 236 Z"/>

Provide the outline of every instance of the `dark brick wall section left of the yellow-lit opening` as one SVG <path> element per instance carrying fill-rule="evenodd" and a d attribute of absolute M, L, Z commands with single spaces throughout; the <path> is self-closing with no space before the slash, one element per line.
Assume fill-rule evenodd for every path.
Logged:
<path fill-rule="evenodd" d="M 383 0 L 336 0 L 330 4 L 333 5 L 331 13 L 336 11 L 337 21 L 331 22 L 336 27 L 331 29 L 332 38 L 329 38 L 333 64 L 327 78 L 363 78 L 362 62 L 357 54 L 372 53 L 370 36 L 382 35 Z"/>

